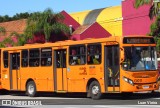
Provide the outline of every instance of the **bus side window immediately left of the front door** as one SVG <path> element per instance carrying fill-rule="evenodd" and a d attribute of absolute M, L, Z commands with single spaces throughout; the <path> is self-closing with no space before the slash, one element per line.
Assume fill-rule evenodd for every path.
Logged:
<path fill-rule="evenodd" d="M 101 63 L 101 45 L 89 44 L 87 46 L 87 63 L 100 64 Z"/>

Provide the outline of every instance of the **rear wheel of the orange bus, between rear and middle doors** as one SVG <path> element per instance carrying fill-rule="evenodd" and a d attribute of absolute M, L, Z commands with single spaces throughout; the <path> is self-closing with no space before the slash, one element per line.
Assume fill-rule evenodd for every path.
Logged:
<path fill-rule="evenodd" d="M 30 96 L 30 97 L 36 96 L 36 85 L 35 85 L 34 81 L 29 81 L 27 83 L 26 92 L 27 92 L 28 96 Z"/>

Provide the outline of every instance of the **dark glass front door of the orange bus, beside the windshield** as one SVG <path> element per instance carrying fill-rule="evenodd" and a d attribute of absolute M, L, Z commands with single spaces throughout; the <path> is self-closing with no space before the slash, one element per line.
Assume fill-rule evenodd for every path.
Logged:
<path fill-rule="evenodd" d="M 119 46 L 105 46 L 105 90 L 119 91 Z"/>

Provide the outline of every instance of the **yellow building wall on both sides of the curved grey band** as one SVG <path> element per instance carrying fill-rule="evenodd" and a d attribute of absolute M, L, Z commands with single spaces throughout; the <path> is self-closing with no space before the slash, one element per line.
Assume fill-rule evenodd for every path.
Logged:
<path fill-rule="evenodd" d="M 82 11 L 71 13 L 70 15 L 81 25 L 90 11 Z M 105 28 L 113 36 L 122 35 L 122 7 L 113 6 L 105 8 L 101 11 L 96 20 L 103 28 Z"/>

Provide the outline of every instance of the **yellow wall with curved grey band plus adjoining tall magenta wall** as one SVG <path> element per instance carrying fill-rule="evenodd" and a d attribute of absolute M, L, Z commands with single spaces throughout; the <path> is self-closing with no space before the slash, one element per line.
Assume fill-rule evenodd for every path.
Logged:
<path fill-rule="evenodd" d="M 135 0 L 122 0 L 121 6 L 87 10 L 70 15 L 81 25 L 97 22 L 112 36 L 146 35 L 154 22 L 149 18 L 151 5 L 134 8 Z"/>

